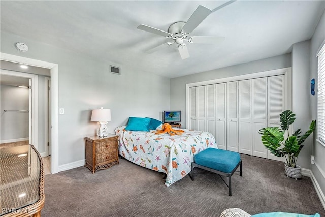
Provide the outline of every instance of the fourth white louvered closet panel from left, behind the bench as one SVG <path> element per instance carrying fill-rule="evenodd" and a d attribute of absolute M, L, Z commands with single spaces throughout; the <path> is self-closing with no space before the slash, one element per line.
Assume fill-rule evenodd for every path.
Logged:
<path fill-rule="evenodd" d="M 216 141 L 218 148 L 226 146 L 226 84 L 216 84 Z"/>

